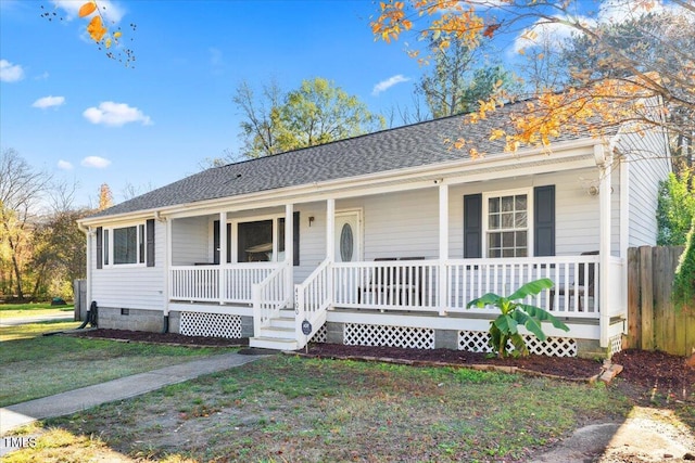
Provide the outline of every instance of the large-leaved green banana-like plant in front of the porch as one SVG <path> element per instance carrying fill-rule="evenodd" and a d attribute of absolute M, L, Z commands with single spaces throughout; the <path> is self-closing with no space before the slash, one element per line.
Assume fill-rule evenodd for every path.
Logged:
<path fill-rule="evenodd" d="M 502 312 L 495 320 L 490 322 L 490 346 L 498 358 L 528 356 L 529 349 L 526 347 L 523 337 L 519 333 L 519 325 L 533 333 L 541 340 L 547 339 L 543 333 L 542 322 L 549 322 L 556 329 L 569 331 L 569 327 L 553 317 L 547 311 L 536 306 L 517 303 L 523 300 L 528 296 L 535 296 L 543 290 L 553 287 L 549 279 L 534 280 L 526 283 L 511 295 L 504 297 L 494 293 L 488 293 L 466 305 L 467 309 L 471 307 L 494 306 Z M 507 344 L 511 342 L 514 350 L 507 351 Z"/>

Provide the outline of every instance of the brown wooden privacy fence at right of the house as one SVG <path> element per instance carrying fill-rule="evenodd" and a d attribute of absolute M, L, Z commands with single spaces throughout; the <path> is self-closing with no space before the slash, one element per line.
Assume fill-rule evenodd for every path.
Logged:
<path fill-rule="evenodd" d="M 695 348 L 695 309 L 671 303 L 682 246 L 628 249 L 628 338 L 626 347 L 690 356 Z"/>

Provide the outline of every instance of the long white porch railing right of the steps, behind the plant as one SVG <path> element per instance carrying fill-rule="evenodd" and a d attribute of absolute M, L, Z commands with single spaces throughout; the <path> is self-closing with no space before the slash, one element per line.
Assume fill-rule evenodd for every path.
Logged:
<path fill-rule="evenodd" d="M 620 259 L 611 266 L 618 271 Z M 333 304 L 343 308 L 408 311 L 496 313 L 496 309 L 466 309 L 485 293 L 509 295 L 532 280 L 548 278 L 552 290 L 533 304 L 564 317 L 598 318 L 599 257 L 556 256 L 508 259 L 378 260 L 333 265 Z M 441 275 L 446 299 L 440 307 Z M 619 280 L 617 280 L 619 281 Z M 616 304 L 620 295 L 614 297 Z M 619 310 L 619 309 L 618 309 Z"/>

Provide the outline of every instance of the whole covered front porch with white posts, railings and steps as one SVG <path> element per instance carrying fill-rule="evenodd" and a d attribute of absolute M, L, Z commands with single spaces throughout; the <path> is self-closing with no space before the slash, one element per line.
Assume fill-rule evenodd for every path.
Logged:
<path fill-rule="evenodd" d="M 548 278 L 526 301 L 570 326 L 548 334 L 619 344 L 623 193 L 595 158 L 173 215 L 167 310 L 245 317 L 252 345 L 293 350 L 327 322 L 483 332 L 496 310 L 468 301 Z M 597 195 L 578 184 L 591 176 Z"/>

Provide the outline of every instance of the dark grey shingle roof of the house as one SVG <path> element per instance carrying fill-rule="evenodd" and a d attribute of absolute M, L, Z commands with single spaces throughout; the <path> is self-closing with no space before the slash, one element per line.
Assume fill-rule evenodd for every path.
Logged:
<path fill-rule="evenodd" d="M 508 125 L 515 106 L 505 106 L 478 124 L 464 124 L 465 116 L 452 116 L 211 168 L 90 218 L 463 159 L 467 150 L 453 150 L 446 142 L 459 137 L 484 146 L 485 153 L 501 153 L 504 141 L 488 141 L 490 130 Z M 568 134 L 560 140 L 577 138 L 581 137 Z"/>

